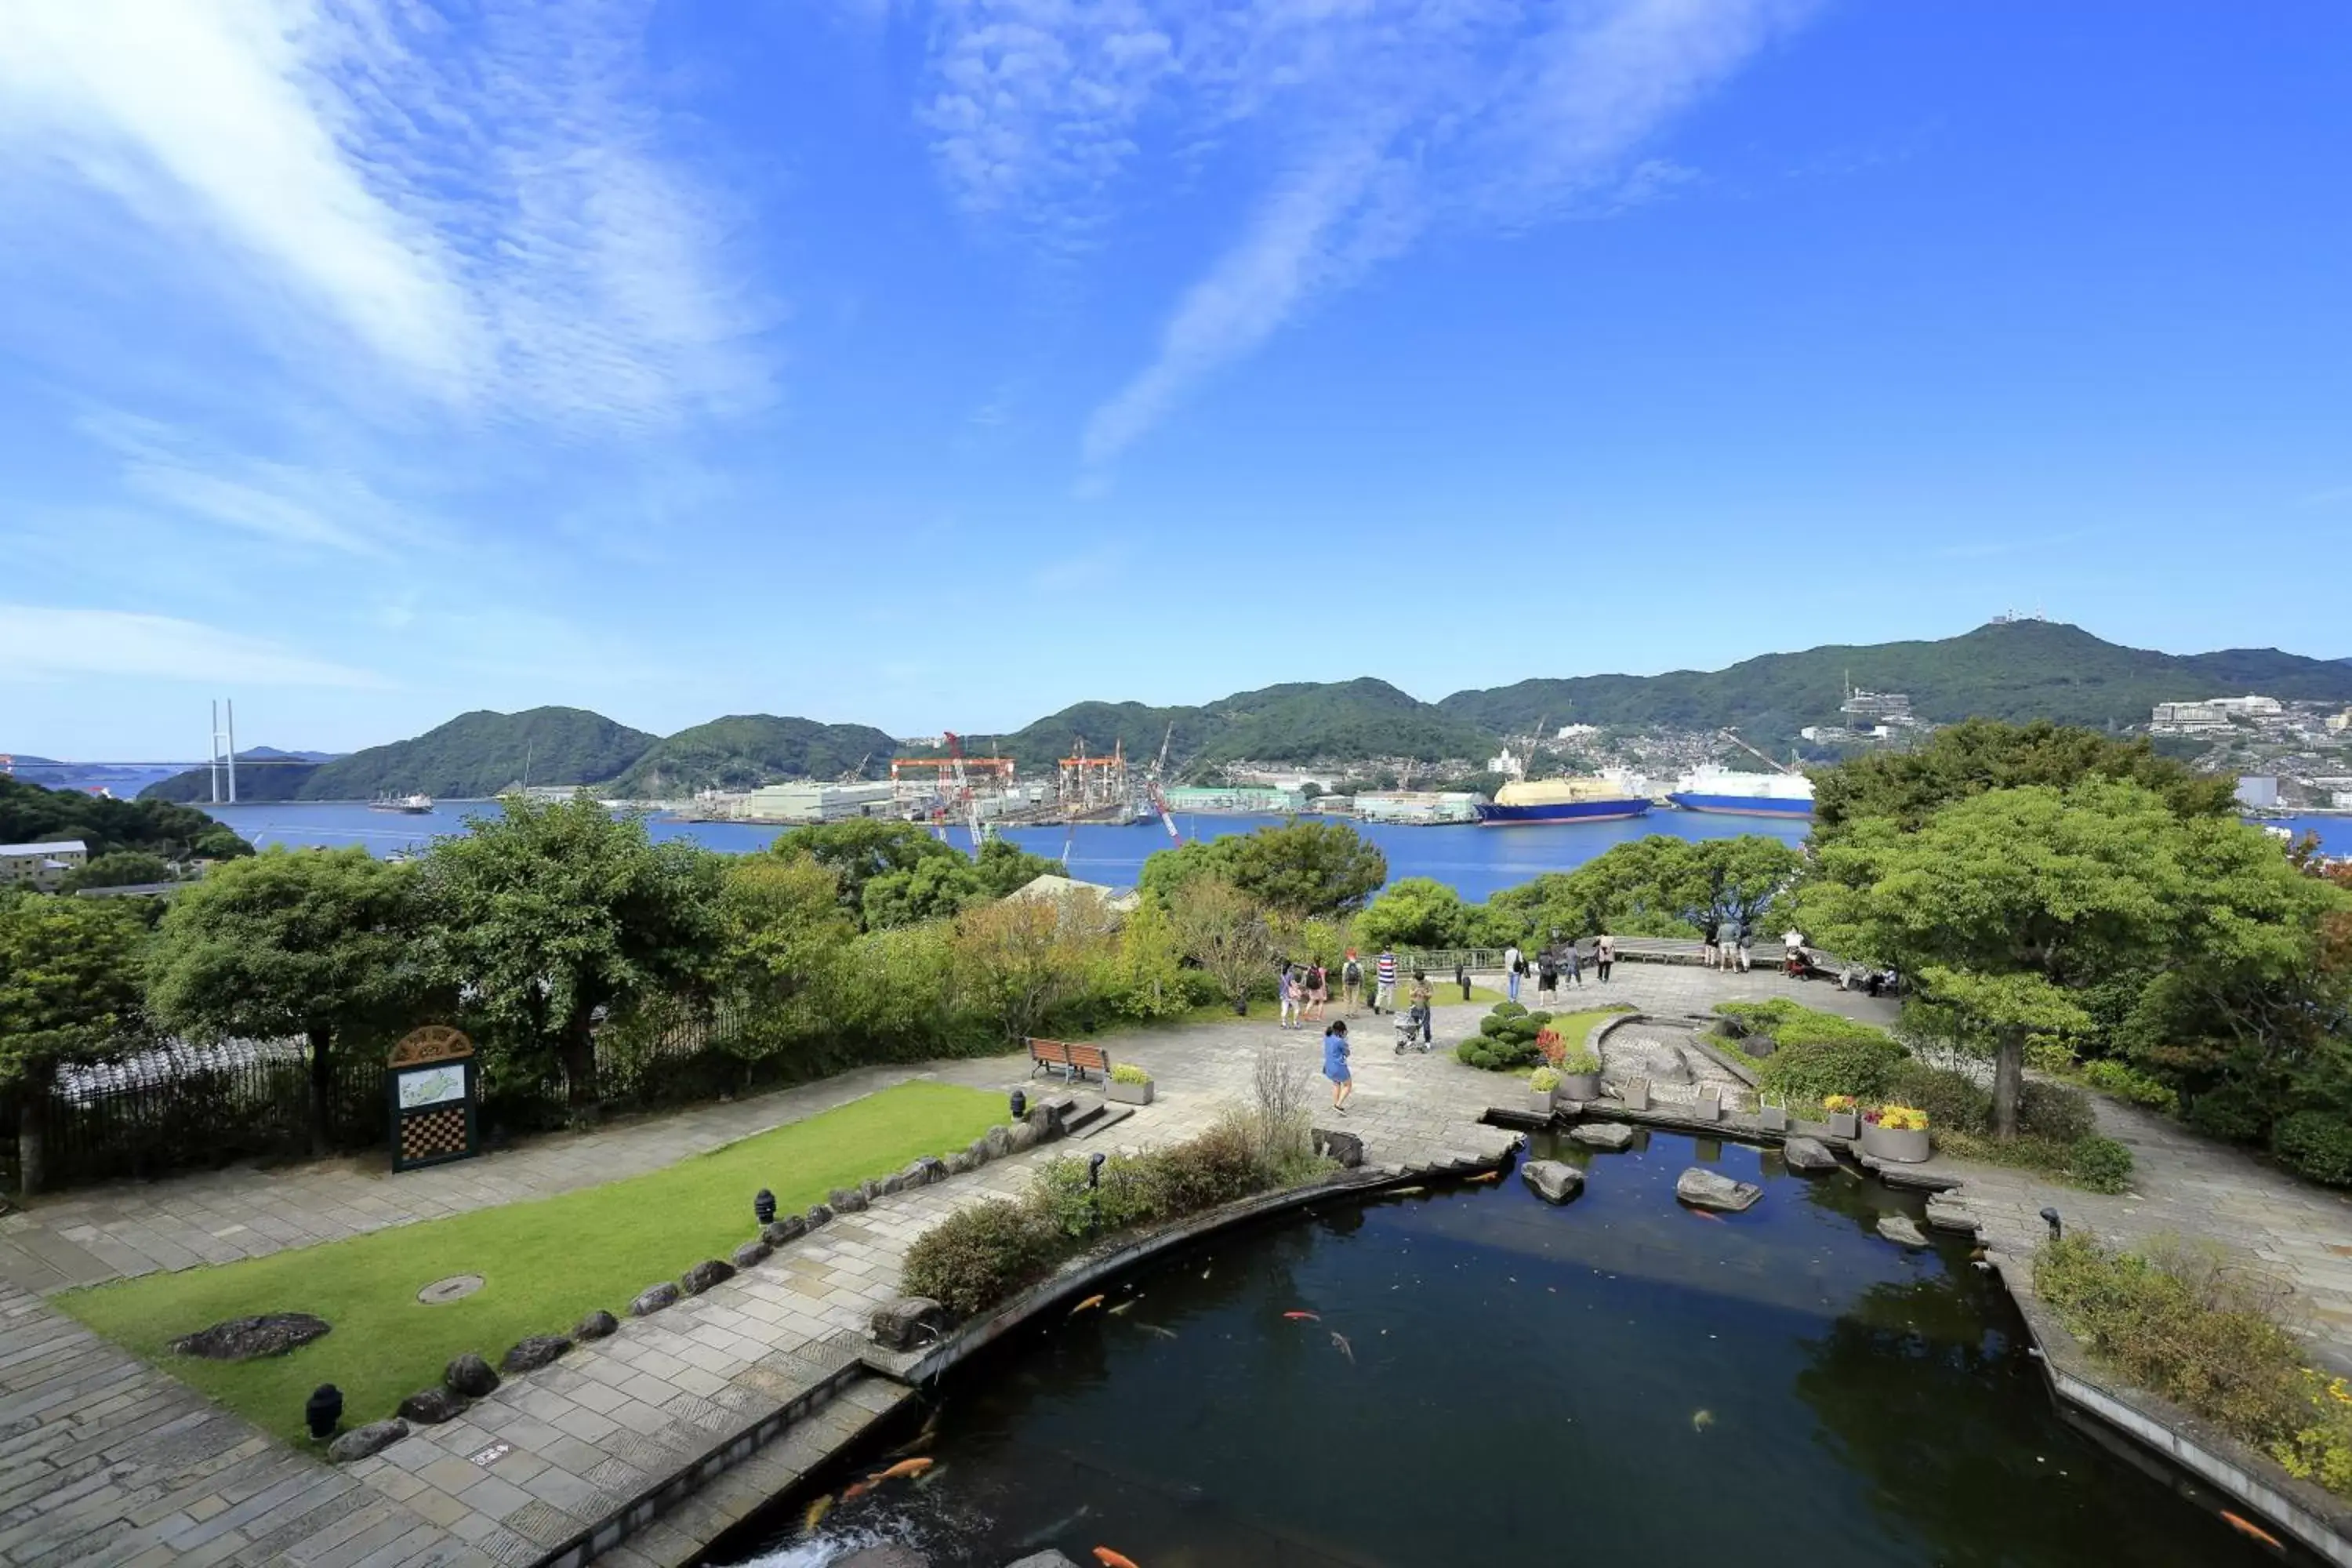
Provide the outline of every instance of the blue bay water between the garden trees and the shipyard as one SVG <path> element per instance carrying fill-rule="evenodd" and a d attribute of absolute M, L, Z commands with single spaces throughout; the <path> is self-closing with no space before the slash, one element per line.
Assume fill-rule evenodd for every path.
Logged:
<path fill-rule="evenodd" d="M 390 856 L 402 849 L 423 849 L 440 835 L 466 832 L 466 818 L 496 816 L 499 804 L 487 799 L 440 802 L 426 816 L 369 811 L 362 804 L 252 804 L 207 806 L 207 811 L 254 844 L 365 844 L 379 856 Z M 1272 816 L 1181 816 L 1176 825 L 1188 839 L 1214 839 L 1279 820 Z M 1357 823 L 1355 827 L 1388 856 L 1390 879 L 1432 877 L 1470 900 L 1482 900 L 1496 889 L 1517 886 L 1543 872 L 1576 870 L 1611 844 L 1653 832 L 1679 839 L 1764 832 L 1790 844 L 1802 842 L 1809 832 L 1809 823 L 1698 811 L 1651 811 L 1623 823 L 1566 823 L 1559 827 L 1399 827 L 1390 823 Z M 2286 827 L 2298 837 L 2317 832 L 2328 853 L 2352 856 L 2352 818 L 2296 818 Z M 750 823 L 677 823 L 668 818 L 652 818 L 649 830 L 656 839 L 694 839 L 729 853 L 767 849 L 783 832 Z M 1167 830 L 1157 823 L 1138 827 L 1016 827 L 1004 837 L 1054 860 L 1068 844 L 1070 875 L 1110 886 L 1131 886 L 1136 872 L 1143 870 L 1143 858 L 1169 846 Z M 948 842 L 960 849 L 971 846 L 971 837 L 960 827 L 948 830 Z"/>

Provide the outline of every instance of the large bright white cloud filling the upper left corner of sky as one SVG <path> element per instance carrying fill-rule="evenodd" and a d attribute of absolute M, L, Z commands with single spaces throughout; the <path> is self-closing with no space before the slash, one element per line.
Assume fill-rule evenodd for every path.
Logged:
<path fill-rule="evenodd" d="M 103 190 L 235 259 L 268 339 L 473 418 L 666 423 L 757 397 L 717 197 L 661 155 L 619 0 L 26 0 L 9 197 Z M 38 233 L 26 226 L 26 233 Z"/>

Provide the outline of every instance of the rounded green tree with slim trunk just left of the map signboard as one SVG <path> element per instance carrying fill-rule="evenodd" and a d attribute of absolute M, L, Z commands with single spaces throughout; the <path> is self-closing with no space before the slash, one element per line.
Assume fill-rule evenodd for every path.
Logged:
<path fill-rule="evenodd" d="M 148 1011 L 198 1039 L 301 1037 L 310 1150 L 355 1034 L 416 994 L 414 875 L 365 849 L 270 849 L 183 889 L 155 931 Z"/>

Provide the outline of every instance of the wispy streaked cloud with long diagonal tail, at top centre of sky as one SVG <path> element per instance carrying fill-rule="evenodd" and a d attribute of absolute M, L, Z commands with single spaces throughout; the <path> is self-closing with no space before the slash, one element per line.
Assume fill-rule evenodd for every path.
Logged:
<path fill-rule="evenodd" d="M 1084 430 L 1105 468 L 1190 388 L 1437 228 L 1606 216 L 1696 176 L 1639 148 L 1806 0 L 941 0 L 924 120 L 976 216 L 1084 244 L 1148 153 L 1270 169 Z"/>

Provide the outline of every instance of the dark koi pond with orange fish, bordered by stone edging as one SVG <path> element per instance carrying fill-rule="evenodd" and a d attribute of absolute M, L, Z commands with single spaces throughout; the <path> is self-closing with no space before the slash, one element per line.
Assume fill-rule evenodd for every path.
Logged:
<path fill-rule="evenodd" d="M 2060 1420 L 1966 1244 L 1877 1237 L 1917 1197 L 1665 1133 L 1526 1157 L 1585 1166 L 1583 1197 L 1510 1173 L 1334 1204 L 1054 1312 L 710 1561 L 2277 1561 Z M 1764 1201 L 1679 1206 L 1691 1164 Z M 908 1446 L 934 1465 L 837 1500 Z"/>

